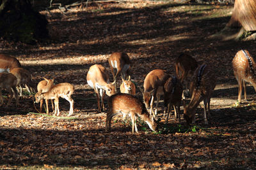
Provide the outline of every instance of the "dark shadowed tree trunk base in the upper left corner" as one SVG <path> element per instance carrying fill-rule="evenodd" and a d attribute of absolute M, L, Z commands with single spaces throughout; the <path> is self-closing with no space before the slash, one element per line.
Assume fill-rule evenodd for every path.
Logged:
<path fill-rule="evenodd" d="M 35 43 L 48 37 L 47 20 L 32 9 L 29 0 L 0 0 L 0 37 Z"/>

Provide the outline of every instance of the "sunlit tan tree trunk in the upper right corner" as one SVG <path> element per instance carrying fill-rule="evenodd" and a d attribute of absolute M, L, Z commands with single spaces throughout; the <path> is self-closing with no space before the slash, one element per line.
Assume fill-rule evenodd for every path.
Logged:
<path fill-rule="evenodd" d="M 228 27 L 243 27 L 245 31 L 256 31 L 256 1 L 236 0 Z"/>

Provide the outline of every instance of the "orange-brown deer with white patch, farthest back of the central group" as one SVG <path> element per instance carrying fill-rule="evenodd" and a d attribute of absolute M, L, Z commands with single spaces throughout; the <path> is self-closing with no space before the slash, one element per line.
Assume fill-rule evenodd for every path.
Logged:
<path fill-rule="evenodd" d="M 115 90 L 116 90 L 116 77 L 121 73 L 121 77 L 126 80 L 127 71 L 130 67 L 130 59 L 127 53 L 124 52 L 115 52 L 109 56 L 108 63 L 113 74 L 115 81 Z M 115 71 L 116 70 L 116 73 Z"/>

